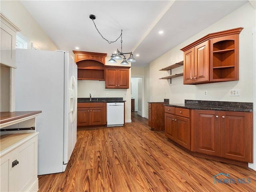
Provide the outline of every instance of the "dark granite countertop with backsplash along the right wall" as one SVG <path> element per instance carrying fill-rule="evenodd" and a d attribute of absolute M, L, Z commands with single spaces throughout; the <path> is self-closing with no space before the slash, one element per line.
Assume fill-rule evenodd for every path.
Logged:
<path fill-rule="evenodd" d="M 166 104 L 165 103 L 164 105 L 186 108 L 186 109 L 198 109 L 198 110 L 241 111 L 241 112 L 253 111 L 253 103 L 247 103 L 247 102 L 185 100 L 184 104 Z"/>

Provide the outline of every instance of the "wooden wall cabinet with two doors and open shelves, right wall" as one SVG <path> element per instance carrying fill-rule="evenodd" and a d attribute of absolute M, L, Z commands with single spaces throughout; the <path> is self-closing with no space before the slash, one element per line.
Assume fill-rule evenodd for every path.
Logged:
<path fill-rule="evenodd" d="M 211 33 L 182 48 L 183 84 L 239 80 L 239 34 L 242 29 Z"/>

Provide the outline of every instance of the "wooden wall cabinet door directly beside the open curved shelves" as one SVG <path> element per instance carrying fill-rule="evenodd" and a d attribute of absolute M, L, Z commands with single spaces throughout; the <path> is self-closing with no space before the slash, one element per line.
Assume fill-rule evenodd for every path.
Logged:
<path fill-rule="evenodd" d="M 195 46 L 194 83 L 209 81 L 209 41 Z"/>

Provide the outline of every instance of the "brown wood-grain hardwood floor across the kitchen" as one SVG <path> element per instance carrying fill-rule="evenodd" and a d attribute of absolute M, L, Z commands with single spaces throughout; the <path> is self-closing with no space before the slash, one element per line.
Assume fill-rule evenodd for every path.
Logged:
<path fill-rule="evenodd" d="M 194 157 L 147 123 L 132 112 L 132 123 L 123 127 L 78 129 L 66 171 L 38 176 L 39 191 L 256 191 L 256 171 Z"/>

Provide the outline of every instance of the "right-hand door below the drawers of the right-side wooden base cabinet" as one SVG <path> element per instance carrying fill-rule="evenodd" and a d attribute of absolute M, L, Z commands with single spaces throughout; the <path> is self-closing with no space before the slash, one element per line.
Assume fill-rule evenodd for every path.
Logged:
<path fill-rule="evenodd" d="M 190 119 L 180 116 L 175 116 L 175 141 L 190 149 Z"/>

